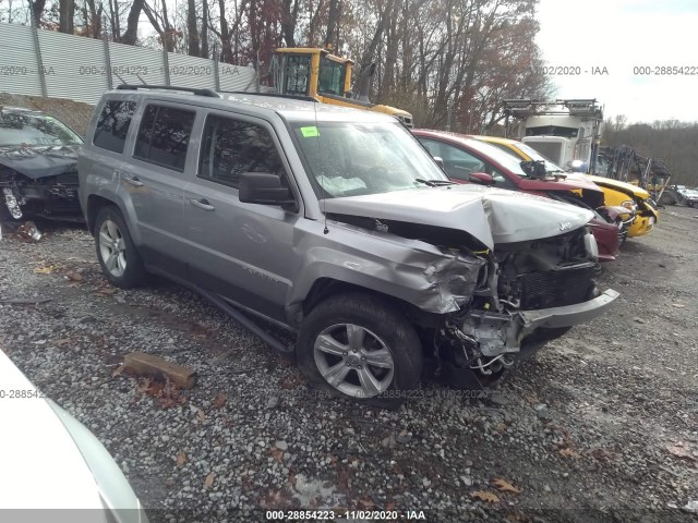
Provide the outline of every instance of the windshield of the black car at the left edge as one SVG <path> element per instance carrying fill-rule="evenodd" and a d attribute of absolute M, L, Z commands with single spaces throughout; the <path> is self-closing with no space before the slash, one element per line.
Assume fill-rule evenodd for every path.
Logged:
<path fill-rule="evenodd" d="M 0 111 L 0 147 L 81 145 L 82 138 L 53 117 L 40 112 Z"/>

